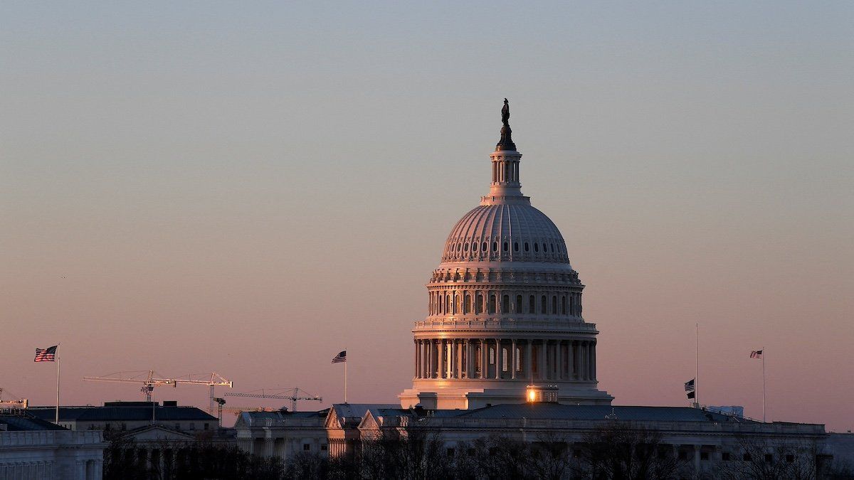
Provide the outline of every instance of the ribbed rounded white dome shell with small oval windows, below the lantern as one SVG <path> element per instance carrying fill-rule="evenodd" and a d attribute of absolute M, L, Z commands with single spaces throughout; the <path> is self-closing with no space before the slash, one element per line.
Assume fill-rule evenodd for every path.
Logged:
<path fill-rule="evenodd" d="M 527 202 L 480 205 L 453 226 L 442 263 L 536 261 L 569 264 L 564 237 Z"/>

